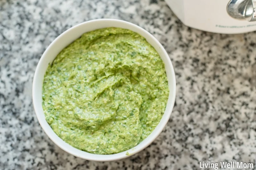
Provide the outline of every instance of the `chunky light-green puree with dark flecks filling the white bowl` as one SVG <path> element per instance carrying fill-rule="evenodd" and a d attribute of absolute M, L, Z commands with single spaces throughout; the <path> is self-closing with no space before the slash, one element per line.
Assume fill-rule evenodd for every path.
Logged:
<path fill-rule="evenodd" d="M 43 109 L 53 131 L 86 152 L 138 145 L 157 126 L 169 95 L 164 63 L 130 30 L 84 33 L 47 68 Z"/>

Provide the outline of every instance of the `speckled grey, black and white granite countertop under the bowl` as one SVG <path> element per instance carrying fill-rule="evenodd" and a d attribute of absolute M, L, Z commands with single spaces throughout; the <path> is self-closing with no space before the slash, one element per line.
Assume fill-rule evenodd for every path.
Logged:
<path fill-rule="evenodd" d="M 76 158 L 39 125 L 32 80 L 46 47 L 83 21 L 140 25 L 168 52 L 176 103 L 145 150 L 112 162 Z M 183 25 L 162 0 L 0 1 L 0 169 L 199 169 L 199 162 L 256 161 L 256 34 L 224 35 Z M 255 165 L 256 166 L 256 165 Z"/>

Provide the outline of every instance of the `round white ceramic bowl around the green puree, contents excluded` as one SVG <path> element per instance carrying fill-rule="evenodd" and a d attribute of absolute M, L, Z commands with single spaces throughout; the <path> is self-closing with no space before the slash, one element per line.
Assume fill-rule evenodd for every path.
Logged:
<path fill-rule="evenodd" d="M 161 59 L 164 61 L 170 93 L 169 93 L 166 110 L 164 112 L 162 119 L 160 120 L 159 124 L 156 126 L 156 129 L 146 139 L 144 139 L 139 145 L 127 151 L 116 153 L 116 154 L 110 154 L 110 155 L 100 155 L 100 154 L 92 154 L 92 153 L 88 153 L 88 152 L 84 152 L 79 149 L 76 149 L 71 145 L 69 145 L 68 143 L 64 142 L 61 138 L 59 138 L 55 134 L 55 132 L 52 130 L 52 128 L 44 118 L 44 111 L 42 107 L 42 88 L 43 88 L 44 74 L 46 72 L 48 64 L 53 61 L 53 59 L 64 47 L 68 46 L 75 39 L 78 39 L 85 32 L 93 31 L 100 28 L 106 28 L 106 27 L 120 27 L 120 28 L 129 29 L 139 33 L 141 36 L 147 39 L 148 43 L 150 43 L 156 49 Z M 111 161 L 111 160 L 123 159 L 137 152 L 140 152 L 141 150 L 146 148 L 148 145 L 150 145 L 154 141 L 154 139 L 162 132 L 162 130 L 164 129 L 164 126 L 169 120 L 169 117 L 171 115 L 171 112 L 174 106 L 175 94 L 176 94 L 176 80 L 175 80 L 175 74 L 172 67 L 172 63 L 168 54 L 164 50 L 164 47 L 149 32 L 147 32 L 146 30 L 144 30 L 143 28 L 137 25 L 134 25 L 132 23 L 122 21 L 122 20 L 96 19 L 96 20 L 86 21 L 84 23 L 73 26 L 72 28 L 69 28 L 67 31 L 60 34 L 60 36 L 58 36 L 50 44 L 50 46 L 48 46 L 48 48 L 43 53 L 36 67 L 36 72 L 33 80 L 32 93 L 33 93 L 33 105 L 34 105 L 38 122 L 42 126 L 43 130 L 48 135 L 48 137 L 56 145 L 58 145 L 61 149 L 63 149 L 64 151 L 76 157 L 80 157 L 87 160 L 95 160 L 95 161 Z M 129 154 L 126 154 L 127 152 Z"/>

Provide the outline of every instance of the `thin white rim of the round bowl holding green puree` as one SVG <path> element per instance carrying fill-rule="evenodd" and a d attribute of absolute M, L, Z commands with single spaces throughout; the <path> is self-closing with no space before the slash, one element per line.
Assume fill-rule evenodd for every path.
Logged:
<path fill-rule="evenodd" d="M 164 62 L 164 60 L 162 59 L 162 56 L 161 59 L 163 60 L 164 62 L 164 66 L 166 67 L 166 65 L 168 67 L 170 67 L 171 69 L 171 77 L 172 79 L 171 80 L 168 80 L 168 86 L 169 86 L 169 97 L 168 97 L 168 101 L 167 101 L 167 104 L 166 104 L 166 109 L 165 109 L 165 112 L 160 120 L 160 122 L 158 123 L 158 125 L 156 126 L 156 128 L 151 132 L 151 134 L 145 138 L 142 142 L 140 142 L 137 146 L 129 149 L 129 150 L 126 150 L 126 151 L 123 151 L 123 152 L 119 152 L 119 153 L 115 153 L 115 154 L 106 154 L 106 155 L 103 155 L 103 154 L 93 154 L 93 153 L 89 153 L 89 152 L 86 152 L 86 151 L 82 151 L 82 150 L 79 150 L 79 149 L 76 149 L 74 148 L 73 146 L 69 145 L 68 143 L 64 142 L 61 138 L 60 140 L 61 141 L 57 141 L 59 138 L 55 132 L 53 132 L 55 134 L 52 134 L 52 132 L 49 131 L 49 124 L 46 122 L 46 120 L 42 120 L 42 118 L 40 118 L 40 114 L 43 114 L 43 117 L 44 117 L 44 112 L 41 113 L 42 111 L 39 110 L 39 107 L 41 106 L 42 108 L 42 103 L 39 104 L 38 102 L 36 102 L 36 97 L 38 95 L 36 95 L 36 89 L 37 89 L 37 80 L 38 78 L 38 74 L 40 74 L 40 70 L 39 70 L 39 66 L 42 65 L 42 62 L 43 60 L 45 59 L 48 51 L 56 44 L 56 42 L 61 38 L 63 37 L 65 34 L 67 34 L 68 32 L 71 32 L 71 31 L 74 31 L 76 29 L 78 29 L 79 27 L 81 26 L 84 26 L 84 25 L 87 25 L 89 23 L 92 23 L 92 22 L 102 22 L 102 21 L 107 21 L 107 22 L 119 22 L 120 24 L 124 24 L 124 25 L 129 25 L 131 27 L 133 27 L 133 29 L 135 30 L 138 30 L 138 32 L 143 32 L 144 34 L 146 34 L 149 39 L 152 39 L 156 44 L 157 46 L 160 48 L 160 50 L 163 52 L 163 55 L 165 58 L 167 58 L 167 63 Z M 109 26 L 106 26 L 106 27 L 101 27 L 101 28 L 107 28 Z M 94 29 L 96 30 L 96 29 Z M 90 31 L 85 31 L 85 32 L 90 32 Z M 84 32 L 84 33 L 85 33 Z M 136 32 L 136 31 L 134 31 Z M 146 38 L 146 37 L 145 37 Z M 69 43 L 70 44 L 70 43 Z M 152 43 L 149 43 L 150 45 L 152 45 Z M 153 45 L 152 45 L 153 46 Z M 155 47 L 154 47 L 155 48 Z M 63 48 L 62 48 L 63 49 Z M 159 54 L 160 55 L 160 54 Z M 55 56 L 56 57 L 56 56 Z M 167 71 L 167 69 L 165 68 L 165 70 Z M 45 73 L 44 73 L 45 74 Z M 167 73 L 166 73 L 167 74 Z M 171 81 L 171 82 L 169 82 Z M 171 83 L 171 85 L 170 85 Z M 43 83 L 42 83 L 42 86 L 43 86 Z M 170 89 L 170 87 L 172 87 L 172 89 Z M 172 91 L 171 91 L 172 90 Z M 170 98 L 171 97 L 171 98 Z M 101 18 L 101 19 L 93 19 L 93 20 L 89 20 L 89 21 L 85 21 L 85 22 L 82 22 L 80 24 L 77 24 L 75 26 L 72 26 L 70 27 L 69 29 L 67 29 L 66 31 L 62 32 L 57 38 L 55 38 L 51 43 L 50 45 L 46 48 L 46 50 L 44 51 L 44 53 L 42 54 L 37 66 L 36 66 L 36 70 L 35 70 L 35 74 L 34 74 L 34 77 L 33 77 L 33 84 L 32 84 L 32 99 L 33 99 L 33 107 L 34 107 L 34 110 L 35 110 L 35 113 L 36 113 L 36 117 L 37 117 L 37 120 L 39 122 L 39 124 L 41 125 L 42 129 L 44 130 L 44 132 L 46 133 L 46 135 L 52 140 L 53 143 L 55 143 L 57 146 L 59 146 L 62 150 L 64 150 L 65 152 L 68 152 L 69 154 L 71 155 L 74 155 L 76 157 L 79 157 L 79 158 L 82 158 L 82 159 L 86 159 L 86 160 L 94 160 L 94 161 L 112 161 L 112 160 L 119 160 L 119 159 L 124 159 L 124 158 L 127 158 L 129 156 L 132 156 L 133 154 L 136 154 L 140 151 L 142 151 L 143 149 L 145 149 L 146 147 L 148 147 L 148 145 L 150 145 L 158 136 L 159 134 L 163 131 L 165 125 L 167 124 L 170 116 L 171 116 L 171 113 L 172 113 L 172 110 L 173 110 L 173 107 L 174 107 L 174 103 L 175 103 L 175 98 L 176 98 L 176 78 L 175 78 L 175 72 L 174 72 L 174 68 L 172 66 L 172 62 L 171 62 L 171 59 L 168 55 L 168 53 L 165 51 L 164 47 L 161 45 L 161 43 L 151 34 L 149 33 L 148 31 L 146 31 L 145 29 L 143 29 L 142 27 L 138 26 L 138 25 L 135 25 L 131 22 L 128 22 L 128 21 L 124 21 L 124 20 L 120 20 L 120 19 L 109 19 L 109 18 Z M 169 106 L 169 110 L 167 111 L 167 106 Z M 166 118 L 164 119 L 164 115 L 167 115 Z M 45 122 L 47 124 L 45 124 Z M 161 124 L 160 124 L 161 123 Z M 47 127 L 47 125 L 49 127 Z M 53 130 L 52 130 L 53 131 Z M 155 131 L 154 135 L 153 135 L 153 132 Z M 56 137 L 57 136 L 57 137 Z M 67 145 L 63 144 L 66 143 Z M 142 144 L 141 144 L 142 143 Z M 139 148 L 138 148 L 139 146 Z M 137 147 L 137 148 L 136 148 Z M 134 151 L 133 151 L 134 150 Z M 131 152 L 132 151 L 132 152 Z M 128 154 L 127 154 L 128 153 Z M 89 156 L 88 156 L 89 155 Z"/>

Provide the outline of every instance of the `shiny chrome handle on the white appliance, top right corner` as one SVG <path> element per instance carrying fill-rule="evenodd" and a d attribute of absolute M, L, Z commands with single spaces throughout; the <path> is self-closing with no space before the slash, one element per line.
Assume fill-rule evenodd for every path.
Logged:
<path fill-rule="evenodd" d="M 230 0 L 227 12 L 232 18 L 256 21 L 256 0 Z"/>

